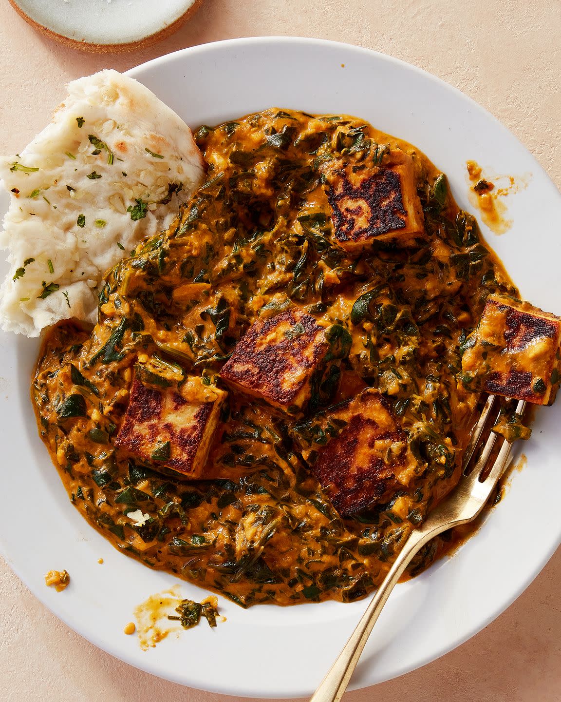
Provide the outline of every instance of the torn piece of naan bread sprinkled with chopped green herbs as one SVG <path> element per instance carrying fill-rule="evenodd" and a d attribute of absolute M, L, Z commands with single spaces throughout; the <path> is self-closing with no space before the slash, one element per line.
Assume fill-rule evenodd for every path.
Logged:
<path fill-rule="evenodd" d="M 68 91 L 52 123 L 0 159 L 11 192 L 0 324 L 27 336 L 95 322 L 104 273 L 168 227 L 205 174 L 187 124 L 134 79 L 105 70 Z"/>

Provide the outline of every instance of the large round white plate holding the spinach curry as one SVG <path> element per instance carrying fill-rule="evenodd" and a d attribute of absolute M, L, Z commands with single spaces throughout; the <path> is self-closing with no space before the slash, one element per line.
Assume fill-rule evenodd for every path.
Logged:
<path fill-rule="evenodd" d="M 158 58 L 129 72 L 191 126 L 219 124 L 266 107 L 353 114 L 419 149 L 447 173 L 459 205 L 471 209 L 466 160 L 528 185 L 506 199 L 513 226 L 489 244 L 522 296 L 561 314 L 555 287 L 561 239 L 561 196 L 506 128 L 454 88 L 388 56 L 334 42 L 292 38 L 223 41 Z M 45 114 L 48 120 L 48 114 Z M 531 176 L 529 176 L 531 174 Z M 477 215 L 477 213 L 475 212 Z M 237 696 L 304 697 L 320 682 L 356 625 L 366 602 L 257 606 L 243 610 L 224 597 L 227 622 L 201 625 L 141 651 L 123 635 L 133 609 L 181 582 L 184 597 L 204 592 L 151 571 L 117 552 L 69 503 L 37 435 L 29 380 L 34 340 L 0 334 L 0 425 L 4 436 L 1 549 L 11 567 L 58 617 L 123 661 L 168 680 Z M 432 661 L 473 636 L 529 585 L 561 541 L 561 404 L 536 414 L 503 501 L 454 557 L 398 585 L 370 637 L 351 689 L 391 679 Z M 539 527 L 532 514 L 539 505 Z M 97 563 L 102 557 L 104 564 Z M 50 569 L 72 583 L 56 593 Z"/>

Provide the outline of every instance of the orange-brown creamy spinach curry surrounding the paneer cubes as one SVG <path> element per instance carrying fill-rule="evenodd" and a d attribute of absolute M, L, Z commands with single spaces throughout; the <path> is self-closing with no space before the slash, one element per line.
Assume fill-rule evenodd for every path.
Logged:
<path fill-rule="evenodd" d="M 83 517 L 149 567 L 244 607 L 356 600 L 457 483 L 478 399 L 457 384 L 462 345 L 487 296 L 516 290 L 445 175 L 360 119 L 273 109 L 202 126 L 196 142 L 205 183 L 168 232 L 107 273 L 95 328 L 48 333 L 32 385 L 41 437 Z M 424 232 L 345 247 L 330 167 L 376 173 L 391 153 L 410 156 Z M 330 345 L 304 411 L 219 377 L 250 326 L 286 310 L 313 317 Z M 116 446 L 141 373 L 229 390 L 200 479 Z M 333 406 L 365 388 L 399 423 L 414 469 L 342 517 L 313 462 L 345 424 Z M 444 548 L 433 540 L 409 574 Z"/>

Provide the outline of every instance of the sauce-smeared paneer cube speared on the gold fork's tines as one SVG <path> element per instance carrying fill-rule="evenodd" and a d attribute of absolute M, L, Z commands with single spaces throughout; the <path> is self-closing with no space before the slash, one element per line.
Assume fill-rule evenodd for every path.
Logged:
<path fill-rule="evenodd" d="M 534 404 L 552 404 L 560 381 L 561 319 L 510 296 L 487 298 L 466 341 L 459 379 Z"/>

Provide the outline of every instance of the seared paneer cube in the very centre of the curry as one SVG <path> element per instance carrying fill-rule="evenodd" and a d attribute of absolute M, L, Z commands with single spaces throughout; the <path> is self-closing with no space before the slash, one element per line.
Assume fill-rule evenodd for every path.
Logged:
<path fill-rule="evenodd" d="M 329 345 L 323 326 L 302 310 L 258 320 L 238 341 L 220 376 L 245 395 L 296 413 L 311 395 L 311 376 Z"/>

